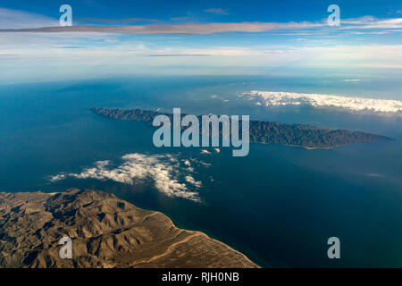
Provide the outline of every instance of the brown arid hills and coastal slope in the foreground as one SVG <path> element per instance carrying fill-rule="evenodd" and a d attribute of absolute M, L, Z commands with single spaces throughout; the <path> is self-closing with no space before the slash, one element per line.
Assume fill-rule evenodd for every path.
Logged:
<path fill-rule="evenodd" d="M 59 257 L 61 238 L 72 258 Z M 199 231 L 112 194 L 0 193 L 0 267 L 258 267 Z"/>

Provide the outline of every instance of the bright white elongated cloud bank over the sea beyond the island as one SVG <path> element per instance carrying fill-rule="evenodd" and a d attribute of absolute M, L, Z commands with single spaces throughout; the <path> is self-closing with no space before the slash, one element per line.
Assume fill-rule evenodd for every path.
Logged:
<path fill-rule="evenodd" d="M 257 90 L 245 93 L 243 97 L 248 100 L 254 100 L 256 105 L 311 105 L 314 107 L 336 107 L 353 111 L 402 115 L 402 101 L 398 100 Z"/>

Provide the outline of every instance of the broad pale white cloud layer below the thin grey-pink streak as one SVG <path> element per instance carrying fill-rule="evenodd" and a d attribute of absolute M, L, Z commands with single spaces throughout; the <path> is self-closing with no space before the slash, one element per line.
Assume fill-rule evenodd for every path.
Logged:
<path fill-rule="evenodd" d="M 49 34 L 50 35 L 50 34 Z M 160 65 L 199 65 L 206 66 L 266 66 L 297 64 L 303 66 L 339 66 L 346 67 L 402 67 L 402 45 L 337 45 L 337 46 L 212 46 L 209 48 L 191 48 L 185 46 L 163 46 L 151 48 L 132 41 L 116 45 L 103 44 L 88 46 L 84 39 L 69 40 L 59 37 L 42 38 L 29 34 L 3 34 L 0 46 L 3 56 L 36 60 L 39 58 L 68 59 L 66 65 L 77 60 L 87 65 L 136 63 L 138 66 Z M 79 34 L 77 34 L 78 36 Z M 81 46 L 86 48 L 60 48 L 60 46 Z M 173 55 L 173 56 L 172 56 Z M 187 56 L 178 56 L 187 55 Z M 202 56 L 200 60 L 199 55 Z M 42 63 L 46 64 L 46 63 Z M 130 71 L 133 69 L 131 68 Z M 211 96 L 211 98 L 218 98 Z"/>

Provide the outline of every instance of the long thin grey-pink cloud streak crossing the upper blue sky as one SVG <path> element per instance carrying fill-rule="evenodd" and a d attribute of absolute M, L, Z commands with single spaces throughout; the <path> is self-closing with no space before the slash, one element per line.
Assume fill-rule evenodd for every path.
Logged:
<path fill-rule="evenodd" d="M 402 18 L 375 20 L 375 21 L 342 21 L 338 30 L 351 29 L 389 29 L 388 32 L 399 32 L 402 28 Z M 15 25 L 15 26 L 12 26 Z M 212 22 L 212 23 L 186 23 L 186 24 L 149 24 L 149 25 L 128 25 L 128 26 L 71 26 L 60 27 L 57 22 L 49 21 L 42 26 L 39 21 L 32 22 L 10 22 L 3 25 L 0 31 L 3 32 L 33 32 L 33 33 L 119 33 L 134 35 L 211 35 L 219 33 L 244 32 L 260 33 L 273 30 L 297 30 L 297 29 L 320 29 L 326 28 L 325 21 L 311 22 Z M 2 30 L 3 29 L 3 30 Z M 15 29 L 15 30 L 14 30 Z M 323 32 L 324 30 L 322 30 Z M 303 32 L 297 35 L 307 35 Z"/>

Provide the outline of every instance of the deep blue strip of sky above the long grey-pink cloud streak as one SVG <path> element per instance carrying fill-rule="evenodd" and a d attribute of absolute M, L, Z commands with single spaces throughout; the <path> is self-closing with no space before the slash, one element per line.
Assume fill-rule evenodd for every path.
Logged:
<path fill-rule="evenodd" d="M 158 21 L 174 21 L 172 18 L 187 17 L 188 21 L 199 22 L 317 21 L 327 16 L 326 9 L 330 4 L 339 4 L 344 18 L 357 18 L 364 15 L 391 18 L 392 14 L 398 16 L 398 11 L 400 14 L 400 9 L 402 9 L 402 4 L 398 0 L 35 0 L 8 1 L 2 3 L 2 7 L 58 18 L 58 9 L 62 4 L 70 4 L 74 8 L 75 17 L 78 18 L 94 17 L 118 20 L 138 17 Z"/>

